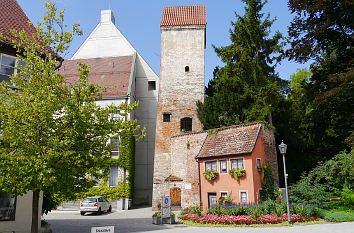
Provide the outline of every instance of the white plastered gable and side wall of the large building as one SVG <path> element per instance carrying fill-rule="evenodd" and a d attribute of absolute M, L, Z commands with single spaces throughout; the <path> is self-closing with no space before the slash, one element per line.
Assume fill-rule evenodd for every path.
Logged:
<path fill-rule="evenodd" d="M 136 143 L 134 205 L 151 204 L 155 151 L 156 106 L 158 76 L 115 26 L 112 11 L 101 11 L 100 23 L 91 32 L 71 59 L 135 56 L 130 101 L 139 101 L 140 107 L 131 114 L 138 124 L 146 127 L 146 138 Z M 156 90 L 148 90 L 148 81 L 155 81 Z M 108 103 L 100 101 L 100 104 Z M 115 101 L 118 104 L 119 101 Z"/>

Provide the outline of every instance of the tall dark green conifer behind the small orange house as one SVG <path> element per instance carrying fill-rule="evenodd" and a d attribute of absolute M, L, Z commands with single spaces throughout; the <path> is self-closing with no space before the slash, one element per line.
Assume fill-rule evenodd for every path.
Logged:
<path fill-rule="evenodd" d="M 225 66 L 216 68 L 207 87 L 208 96 L 204 103 L 197 103 L 205 129 L 252 121 L 273 124 L 272 112 L 282 98 L 284 82 L 275 72 L 273 59 L 283 46 L 282 35 L 270 35 L 275 19 L 262 13 L 266 1 L 243 2 L 245 14 L 235 13 L 236 21 L 231 22 L 232 43 L 214 46 Z"/>

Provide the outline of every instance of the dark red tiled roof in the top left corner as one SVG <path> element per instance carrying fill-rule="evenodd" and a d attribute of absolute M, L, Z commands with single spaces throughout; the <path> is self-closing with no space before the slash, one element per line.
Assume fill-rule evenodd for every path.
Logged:
<path fill-rule="evenodd" d="M 0 33 L 4 36 L 13 37 L 10 29 L 24 30 L 27 35 L 36 34 L 33 25 L 29 25 L 25 12 L 23 12 L 16 0 L 0 0 Z"/>

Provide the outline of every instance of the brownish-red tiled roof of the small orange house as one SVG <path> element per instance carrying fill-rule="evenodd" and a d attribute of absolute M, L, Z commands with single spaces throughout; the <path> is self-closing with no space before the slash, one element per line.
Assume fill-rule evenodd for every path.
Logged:
<path fill-rule="evenodd" d="M 262 123 L 254 123 L 219 129 L 217 133 L 208 135 L 197 158 L 249 154 L 253 151 L 261 127 Z"/>

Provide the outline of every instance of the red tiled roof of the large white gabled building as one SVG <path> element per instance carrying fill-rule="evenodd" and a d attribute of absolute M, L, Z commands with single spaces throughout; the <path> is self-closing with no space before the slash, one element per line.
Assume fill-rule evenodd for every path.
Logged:
<path fill-rule="evenodd" d="M 91 67 L 88 80 L 106 87 L 103 97 L 127 96 L 129 89 L 130 73 L 133 65 L 133 56 L 90 58 L 80 60 L 65 60 L 59 73 L 65 76 L 69 83 L 78 80 L 78 62 Z"/>

